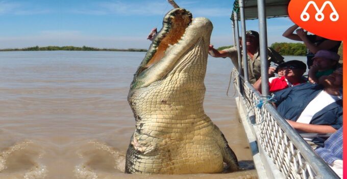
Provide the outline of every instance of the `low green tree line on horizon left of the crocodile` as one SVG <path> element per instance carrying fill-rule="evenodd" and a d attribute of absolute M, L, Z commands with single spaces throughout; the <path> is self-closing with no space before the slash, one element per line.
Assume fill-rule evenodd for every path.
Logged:
<path fill-rule="evenodd" d="M 23 49 L 0 49 L 0 51 L 56 51 L 56 50 L 64 50 L 64 51 L 124 51 L 124 52 L 147 52 L 146 49 L 99 49 L 94 47 L 73 47 L 73 46 L 47 46 L 47 47 L 28 47 Z"/>

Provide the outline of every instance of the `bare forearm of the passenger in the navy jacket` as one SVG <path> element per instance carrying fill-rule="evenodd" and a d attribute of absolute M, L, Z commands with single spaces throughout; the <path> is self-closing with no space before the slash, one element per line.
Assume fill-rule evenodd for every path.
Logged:
<path fill-rule="evenodd" d="M 296 130 L 307 133 L 334 133 L 336 129 L 330 125 L 305 124 L 287 120 L 287 122 Z"/>

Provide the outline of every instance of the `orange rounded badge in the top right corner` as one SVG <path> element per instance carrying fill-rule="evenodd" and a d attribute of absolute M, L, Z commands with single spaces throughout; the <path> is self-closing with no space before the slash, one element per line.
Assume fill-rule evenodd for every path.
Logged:
<path fill-rule="evenodd" d="M 301 28 L 332 40 L 347 39 L 347 1 L 291 0 L 288 13 Z"/>

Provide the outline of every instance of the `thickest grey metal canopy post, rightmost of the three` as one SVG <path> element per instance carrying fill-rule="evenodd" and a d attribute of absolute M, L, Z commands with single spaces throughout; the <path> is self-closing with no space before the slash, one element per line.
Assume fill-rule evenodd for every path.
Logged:
<path fill-rule="evenodd" d="M 259 51 L 261 61 L 261 93 L 264 98 L 269 95 L 268 85 L 268 63 L 267 63 L 267 29 L 266 29 L 266 10 L 265 0 L 258 1 L 259 19 Z"/>

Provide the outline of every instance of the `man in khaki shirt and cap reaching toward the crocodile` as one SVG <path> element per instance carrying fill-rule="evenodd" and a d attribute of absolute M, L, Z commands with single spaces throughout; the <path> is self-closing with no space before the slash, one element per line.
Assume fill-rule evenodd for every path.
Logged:
<path fill-rule="evenodd" d="M 256 31 L 247 31 L 246 32 L 246 46 L 247 46 L 247 65 L 248 65 L 248 74 L 249 82 L 254 84 L 261 76 L 260 73 L 260 54 L 259 54 L 259 34 Z M 235 47 L 217 51 L 213 48 L 212 45 L 209 47 L 209 54 L 213 57 L 229 57 L 231 58 L 234 66 L 238 69 L 238 60 L 237 60 L 237 49 Z M 243 52 L 242 52 L 243 55 Z M 267 48 L 267 63 L 268 66 L 270 62 L 280 64 L 283 61 L 283 57 L 276 52 L 274 49 Z M 243 66 L 243 61 L 242 61 Z M 275 68 L 269 68 L 269 75 L 272 75 L 275 72 Z"/>

